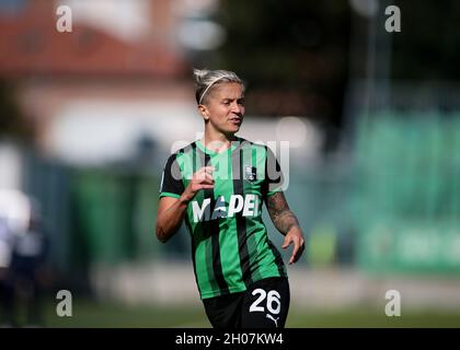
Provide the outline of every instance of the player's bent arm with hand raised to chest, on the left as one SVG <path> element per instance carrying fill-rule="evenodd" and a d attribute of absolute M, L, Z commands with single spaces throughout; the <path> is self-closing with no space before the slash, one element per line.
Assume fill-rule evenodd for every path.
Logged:
<path fill-rule="evenodd" d="M 188 186 L 179 198 L 162 197 L 158 206 L 156 234 L 160 242 L 165 243 L 179 230 L 184 219 L 187 205 L 200 189 L 212 188 L 212 167 L 205 166 L 192 177 Z"/>

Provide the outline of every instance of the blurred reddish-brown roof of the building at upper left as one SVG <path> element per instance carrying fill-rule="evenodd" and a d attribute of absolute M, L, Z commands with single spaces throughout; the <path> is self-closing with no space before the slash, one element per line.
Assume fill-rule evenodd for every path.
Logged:
<path fill-rule="evenodd" d="M 0 75 L 140 75 L 173 78 L 185 62 L 160 43 L 123 42 L 100 30 L 73 23 L 59 33 L 48 11 L 16 16 L 0 13 Z"/>

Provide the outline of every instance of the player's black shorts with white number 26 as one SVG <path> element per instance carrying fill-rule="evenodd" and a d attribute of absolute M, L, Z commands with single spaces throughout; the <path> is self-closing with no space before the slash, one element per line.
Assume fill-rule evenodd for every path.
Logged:
<path fill-rule="evenodd" d="M 260 280 L 245 292 L 203 300 L 214 328 L 284 328 L 289 310 L 287 278 Z"/>

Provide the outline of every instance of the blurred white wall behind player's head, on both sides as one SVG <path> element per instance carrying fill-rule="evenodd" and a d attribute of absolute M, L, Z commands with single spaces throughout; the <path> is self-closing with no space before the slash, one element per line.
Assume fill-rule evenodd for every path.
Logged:
<path fill-rule="evenodd" d="M 157 141 L 161 150 L 175 151 L 179 143 L 200 138 L 204 130 L 195 104 L 183 100 L 80 100 L 67 103 L 54 120 L 47 141 L 50 152 L 80 165 L 127 159 L 142 136 Z M 313 124 L 296 117 L 246 116 L 239 136 L 251 141 L 289 141 L 295 163 L 314 159 L 322 142 Z"/>

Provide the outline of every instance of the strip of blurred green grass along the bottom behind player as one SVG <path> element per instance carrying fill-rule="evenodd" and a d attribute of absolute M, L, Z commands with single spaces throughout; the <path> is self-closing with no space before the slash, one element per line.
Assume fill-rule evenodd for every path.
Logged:
<path fill-rule="evenodd" d="M 56 304 L 45 306 L 47 327 L 115 327 L 115 328 L 207 328 L 210 327 L 200 307 L 161 305 L 126 306 L 117 304 L 100 304 L 89 301 L 73 301 L 72 316 L 58 317 Z M 401 317 L 388 317 L 377 310 L 344 310 L 335 312 L 319 312 L 308 310 L 291 310 L 288 316 L 288 328 L 315 327 L 456 327 L 460 328 L 460 312 L 438 313 L 417 312 L 404 313 Z"/>

